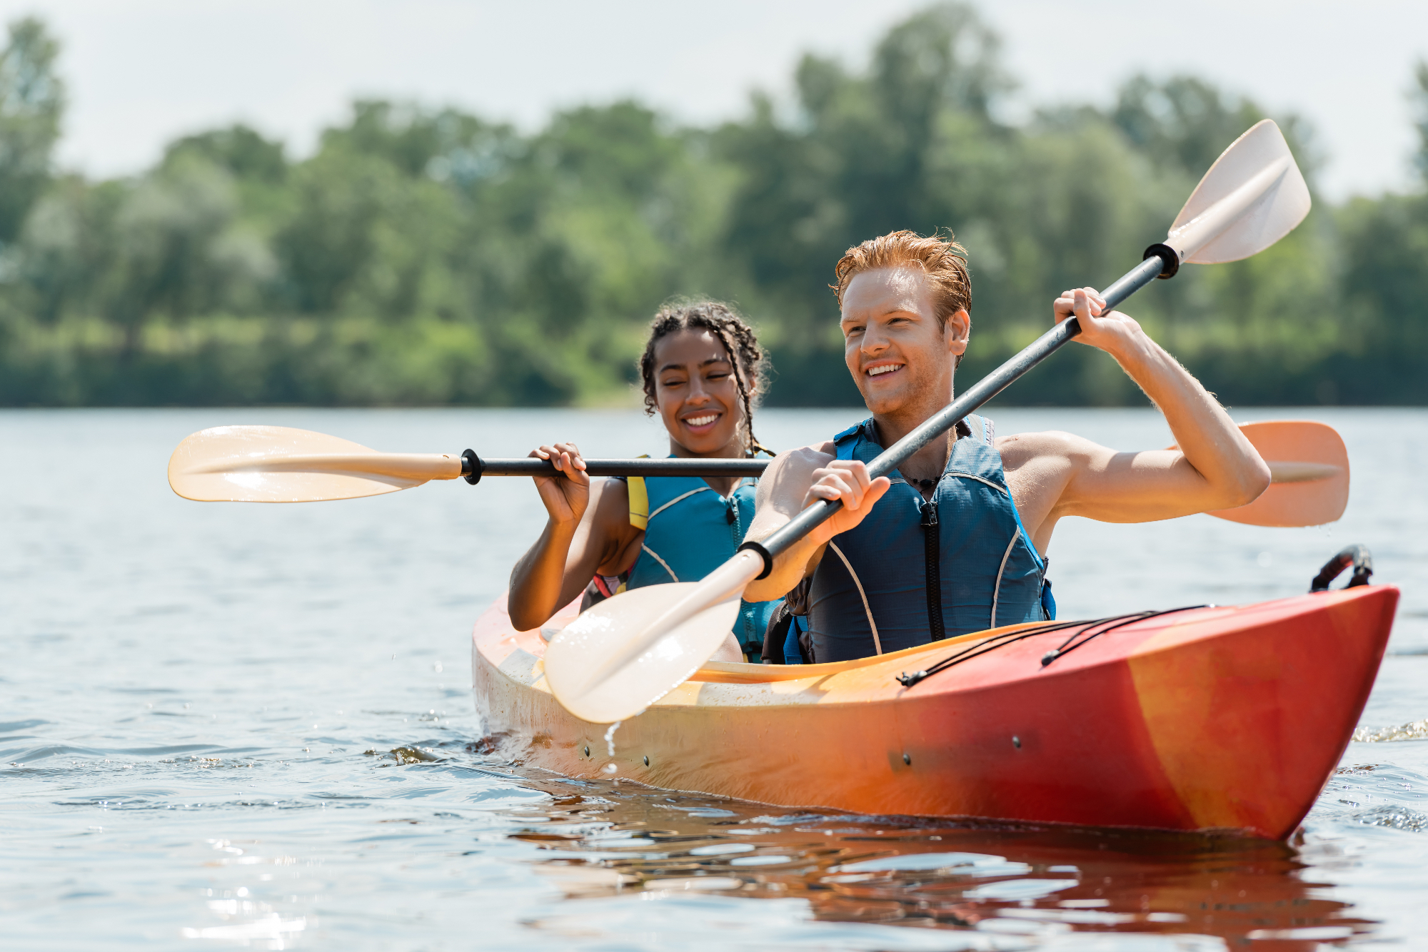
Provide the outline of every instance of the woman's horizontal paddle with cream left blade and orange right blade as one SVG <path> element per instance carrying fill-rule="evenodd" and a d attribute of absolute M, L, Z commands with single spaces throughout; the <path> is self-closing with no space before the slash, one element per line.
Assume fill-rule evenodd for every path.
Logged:
<path fill-rule="evenodd" d="M 1287 420 L 1241 427 L 1269 464 L 1275 485 L 1248 507 L 1211 512 L 1255 525 L 1322 525 L 1348 500 L 1348 455 L 1332 427 Z M 1172 447 L 1174 448 L 1174 447 Z M 590 475 L 757 477 L 768 460 L 585 460 Z M 557 475 L 548 460 L 481 460 L 436 452 L 377 452 L 310 430 L 214 427 L 174 450 L 169 485 L 200 502 L 318 502 L 396 492 L 428 480 Z M 1285 485 L 1279 485 L 1285 484 Z"/>

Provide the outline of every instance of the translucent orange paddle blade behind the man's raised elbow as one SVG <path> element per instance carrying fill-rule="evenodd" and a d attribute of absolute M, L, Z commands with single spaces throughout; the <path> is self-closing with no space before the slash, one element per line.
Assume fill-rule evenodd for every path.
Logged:
<path fill-rule="evenodd" d="M 1269 464 L 1274 482 L 1258 500 L 1211 512 L 1250 525 L 1324 525 L 1348 505 L 1348 450 L 1334 427 L 1311 420 L 1268 420 L 1240 430 Z"/>

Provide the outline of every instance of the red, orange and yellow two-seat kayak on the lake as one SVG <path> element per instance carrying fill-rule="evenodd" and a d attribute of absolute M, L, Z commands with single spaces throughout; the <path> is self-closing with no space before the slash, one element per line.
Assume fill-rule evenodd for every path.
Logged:
<path fill-rule="evenodd" d="M 1398 589 L 1030 622 L 814 665 L 710 662 L 590 724 L 544 681 L 503 595 L 473 631 L 494 749 L 573 778 L 777 806 L 1282 839 L 1348 746 Z"/>

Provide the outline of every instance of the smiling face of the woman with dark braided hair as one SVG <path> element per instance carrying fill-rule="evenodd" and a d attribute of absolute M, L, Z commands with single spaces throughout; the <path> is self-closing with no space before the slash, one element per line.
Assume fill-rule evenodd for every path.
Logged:
<path fill-rule="evenodd" d="M 654 398 L 671 448 L 744 455 L 738 381 L 724 344 L 707 330 L 675 331 L 654 345 Z"/>

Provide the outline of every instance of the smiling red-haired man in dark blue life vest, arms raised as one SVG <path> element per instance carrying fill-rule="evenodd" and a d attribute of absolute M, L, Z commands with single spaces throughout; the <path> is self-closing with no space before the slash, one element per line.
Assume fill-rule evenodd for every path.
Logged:
<path fill-rule="evenodd" d="M 911 231 L 864 241 L 835 268 L 844 361 L 873 417 L 780 454 L 758 488 L 747 538 L 761 540 L 815 500 L 843 508 L 744 591 L 780 598 L 810 579 L 814 661 L 898 651 L 1054 615 L 1045 585 L 1064 515 L 1148 522 L 1254 501 L 1269 468 L 1224 408 L 1092 288 L 1067 291 L 1082 344 L 1111 354 L 1165 414 L 1178 450 L 1117 452 L 1070 432 L 997 437 L 968 417 L 891 478 L 867 462 L 952 400 L 971 333 L 965 251 Z"/>

